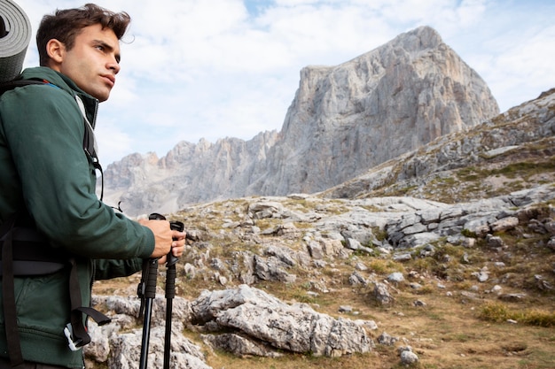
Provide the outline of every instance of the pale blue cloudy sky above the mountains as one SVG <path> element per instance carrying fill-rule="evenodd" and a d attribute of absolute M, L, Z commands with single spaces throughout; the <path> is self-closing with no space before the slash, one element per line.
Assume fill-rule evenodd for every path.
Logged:
<path fill-rule="evenodd" d="M 89 1 L 15 0 L 33 27 Z M 92 0 L 94 1 L 94 0 Z M 103 165 L 165 156 L 178 142 L 279 131 L 308 65 L 340 65 L 433 27 L 488 84 L 500 110 L 555 88 L 552 0 L 98 0 L 131 16 L 121 72 L 100 104 Z"/>

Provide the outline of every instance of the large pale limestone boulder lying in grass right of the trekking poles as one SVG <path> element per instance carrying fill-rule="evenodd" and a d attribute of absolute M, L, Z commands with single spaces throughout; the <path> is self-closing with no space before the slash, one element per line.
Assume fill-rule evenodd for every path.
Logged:
<path fill-rule="evenodd" d="M 279 350 L 340 357 L 369 352 L 373 344 L 359 323 L 333 319 L 306 304 L 284 304 L 246 285 L 205 291 L 192 303 L 192 312 L 194 324 L 215 322 Z"/>

